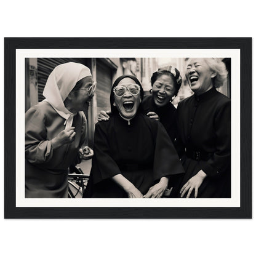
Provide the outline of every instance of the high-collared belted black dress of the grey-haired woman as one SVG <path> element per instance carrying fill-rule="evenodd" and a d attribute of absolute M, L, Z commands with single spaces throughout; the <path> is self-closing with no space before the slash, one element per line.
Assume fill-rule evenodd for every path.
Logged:
<path fill-rule="evenodd" d="M 230 98 L 215 87 L 199 97 L 192 95 L 178 103 L 177 119 L 178 142 L 183 145 L 182 163 L 185 169 L 180 188 L 202 169 L 207 177 L 199 187 L 198 198 L 230 198 Z M 196 160 L 188 154 L 197 151 L 204 155 L 204 159 Z M 190 197 L 193 198 L 194 193 Z"/>

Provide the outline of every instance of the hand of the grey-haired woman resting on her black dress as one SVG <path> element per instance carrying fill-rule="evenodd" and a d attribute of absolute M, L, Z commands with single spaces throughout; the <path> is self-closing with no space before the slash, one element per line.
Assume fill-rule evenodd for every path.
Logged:
<path fill-rule="evenodd" d="M 206 178 L 206 173 L 203 170 L 199 170 L 199 172 L 194 175 L 188 182 L 185 183 L 185 185 L 180 190 L 181 198 L 188 192 L 186 195 L 186 198 L 190 198 L 190 194 L 194 190 L 194 198 L 198 197 L 198 189 L 201 186 L 202 182 L 204 181 L 204 178 Z"/>

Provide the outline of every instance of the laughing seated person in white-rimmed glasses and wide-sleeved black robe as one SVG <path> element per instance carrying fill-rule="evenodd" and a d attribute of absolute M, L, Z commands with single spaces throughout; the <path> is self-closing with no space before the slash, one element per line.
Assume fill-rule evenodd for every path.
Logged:
<path fill-rule="evenodd" d="M 135 76 L 116 79 L 110 119 L 95 125 L 86 197 L 161 198 L 169 178 L 184 172 L 162 124 L 142 114 L 142 100 Z"/>

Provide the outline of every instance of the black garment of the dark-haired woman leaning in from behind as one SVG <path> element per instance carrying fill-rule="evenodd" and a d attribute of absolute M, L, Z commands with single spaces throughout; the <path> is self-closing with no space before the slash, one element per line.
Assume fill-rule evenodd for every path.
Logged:
<path fill-rule="evenodd" d="M 143 113 L 147 114 L 150 111 L 158 114 L 159 121 L 164 126 L 169 135 L 170 139 L 174 143 L 175 138 L 177 138 L 177 110 L 172 103 L 166 104 L 164 106 L 158 107 L 154 103 L 152 95 L 146 95 L 142 101 L 142 110 Z"/>

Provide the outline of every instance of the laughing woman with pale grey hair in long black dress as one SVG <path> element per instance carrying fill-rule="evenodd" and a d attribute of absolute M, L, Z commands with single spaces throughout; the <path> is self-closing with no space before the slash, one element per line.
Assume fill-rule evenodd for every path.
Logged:
<path fill-rule="evenodd" d="M 186 79 L 194 95 L 178 103 L 178 142 L 185 169 L 178 197 L 230 198 L 231 102 L 216 90 L 226 80 L 218 58 L 192 58 Z M 176 194 L 176 196 L 177 196 Z"/>

